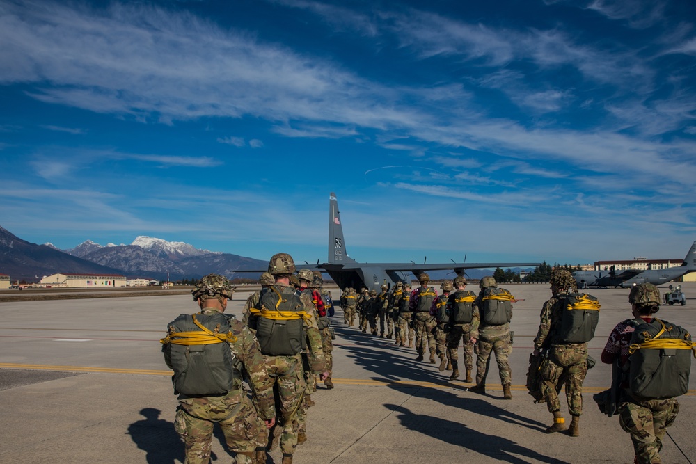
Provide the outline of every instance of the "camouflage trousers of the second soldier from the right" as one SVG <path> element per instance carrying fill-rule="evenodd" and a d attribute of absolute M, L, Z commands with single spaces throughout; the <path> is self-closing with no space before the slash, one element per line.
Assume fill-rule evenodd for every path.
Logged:
<path fill-rule="evenodd" d="M 541 363 L 541 394 L 546 398 L 548 412 L 561 409 L 558 392 L 564 385 L 569 413 L 583 415 L 583 381 L 586 375 L 586 343 L 552 345 L 546 360 Z"/>

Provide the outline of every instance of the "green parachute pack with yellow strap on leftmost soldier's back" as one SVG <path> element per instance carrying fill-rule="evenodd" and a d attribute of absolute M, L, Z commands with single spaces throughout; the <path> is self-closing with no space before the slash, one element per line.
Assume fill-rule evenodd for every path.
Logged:
<path fill-rule="evenodd" d="M 181 314 L 169 323 L 168 334 L 160 342 L 174 371 L 174 393 L 215 396 L 241 385 L 241 363 L 230 350 L 230 343 L 236 341 L 230 316 L 221 312 Z"/>

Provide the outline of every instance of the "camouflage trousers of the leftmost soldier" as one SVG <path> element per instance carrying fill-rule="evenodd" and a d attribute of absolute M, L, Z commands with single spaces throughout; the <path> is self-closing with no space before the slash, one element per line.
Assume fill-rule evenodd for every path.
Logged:
<path fill-rule="evenodd" d="M 256 409 L 240 388 L 221 397 L 180 401 L 174 428 L 186 447 L 184 464 L 208 464 L 213 427 L 220 424 L 227 446 L 237 453 L 237 463 L 250 463 L 256 449 L 260 421 Z M 241 454 L 246 453 L 246 454 Z"/>

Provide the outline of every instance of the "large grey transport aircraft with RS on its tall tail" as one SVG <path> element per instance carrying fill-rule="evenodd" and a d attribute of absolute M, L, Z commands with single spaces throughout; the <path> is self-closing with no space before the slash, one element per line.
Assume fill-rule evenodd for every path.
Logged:
<path fill-rule="evenodd" d="M 298 263 L 295 264 L 299 266 Z M 317 262 L 317 264 L 307 264 L 299 267 L 328 273 L 342 289 L 345 287 L 354 287 L 356 289 L 365 287 L 368 290 L 376 289 L 379 292 L 379 287 L 385 283 L 391 287 L 399 281 L 410 282 L 409 272 L 418 275 L 425 271 L 452 269 L 457 275 L 461 275 L 466 269 L 538 265 L 539 263 L 456 263 L 454 261 L 445 264 L 356 262 L 346 252 L 343 227 L 340 213 L 338 212 L 338 200 L 335 193 L 331 192 L 329 197 L 329 262 L 324 264 Z"/>

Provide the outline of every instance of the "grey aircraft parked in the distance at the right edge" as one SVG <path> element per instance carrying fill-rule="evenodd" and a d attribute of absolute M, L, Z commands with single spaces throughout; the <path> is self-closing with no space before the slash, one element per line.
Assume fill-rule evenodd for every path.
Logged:
<path fill-rule="evenodd" d="M 638 269 L 626 269 L 615 271 L 575 271 L 573 277 L 578 282 L 578 287 L 582 288 L 587 284 L 588 287 L 631 287 L 635 284 L 650 283 L 660 285 L 680 278 L 682 275 L 696 271 L 696 241 L 686 253 L 681 266 L 670 267 L 667 269 L 648 269 L 640 271 Z"/>

